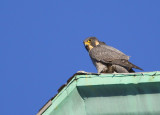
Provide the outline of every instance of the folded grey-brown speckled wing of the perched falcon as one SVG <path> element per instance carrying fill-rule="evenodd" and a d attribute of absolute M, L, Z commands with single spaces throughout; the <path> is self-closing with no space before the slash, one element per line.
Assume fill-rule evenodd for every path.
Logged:
<path fill-rule="evenodd" d="M 97 47 L 94 47 L 89 52 L 89 55 L 91 56 L 92 59 L 101 61 L 103 63 L 109 63 L 117 59 L 125 59 L 125 60 L 129 59 L 129 56 L 107 45 L 98 45 Z"/>

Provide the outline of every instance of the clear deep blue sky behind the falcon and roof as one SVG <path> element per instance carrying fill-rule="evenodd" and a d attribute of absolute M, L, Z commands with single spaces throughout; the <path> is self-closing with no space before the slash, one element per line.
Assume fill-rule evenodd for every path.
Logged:
<path fill-rule="evenodd" d="M 160 70 L 159 0 L 1 0 L 0 114 L 35 115 L 79 70 L 97 72 L 89 36 Z M 138 71 L 138 70 L 136 70 Z"/>

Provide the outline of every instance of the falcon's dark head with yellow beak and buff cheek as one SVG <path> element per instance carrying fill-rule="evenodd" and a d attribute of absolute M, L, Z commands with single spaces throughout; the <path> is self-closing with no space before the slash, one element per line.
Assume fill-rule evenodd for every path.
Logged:
<path fill-rule="evenodd" d="M 83 41 L 83 43 L 87 51 L 90 51 L 99 44 L 105 44 L 104 42 L 100 42 L 96 37 L 88 37 Z"/>

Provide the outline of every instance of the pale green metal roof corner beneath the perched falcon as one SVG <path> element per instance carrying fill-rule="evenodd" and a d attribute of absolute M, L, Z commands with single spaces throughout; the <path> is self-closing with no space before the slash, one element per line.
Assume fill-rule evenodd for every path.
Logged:
<path fill-rule="evenodd" d="M 37 115 L 160 115 L 160 72 L 77 73 Z"/>

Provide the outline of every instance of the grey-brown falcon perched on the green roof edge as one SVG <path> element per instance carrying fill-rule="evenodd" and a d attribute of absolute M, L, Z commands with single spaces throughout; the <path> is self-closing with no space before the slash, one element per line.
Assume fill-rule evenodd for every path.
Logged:
<path fill-rule="evenodd" d="M 129 62 L 129 56 L 99 41 L 96 37 L 88 37 L 83 43 L 98 73 L 130 73 L 134 72 L 132 68 L 143 70 Z"/>

